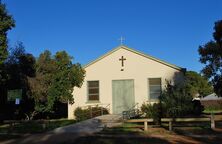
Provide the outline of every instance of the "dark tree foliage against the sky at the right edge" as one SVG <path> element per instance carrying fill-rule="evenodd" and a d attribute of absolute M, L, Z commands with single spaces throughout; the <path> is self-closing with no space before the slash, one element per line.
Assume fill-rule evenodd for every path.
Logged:
<path fill-rule="evenodd" d="M 200 62 L 205 65 L 202 73 L 208 78 L 218 96 L 222 96 L 222 20 L 215 22 L 214 40 L 199 46 Z"/>

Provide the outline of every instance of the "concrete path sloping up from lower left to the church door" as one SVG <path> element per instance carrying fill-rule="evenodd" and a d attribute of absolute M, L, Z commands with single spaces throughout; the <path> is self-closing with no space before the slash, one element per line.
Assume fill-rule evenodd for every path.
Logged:
<path fill-rule="evenodd" d="M 59 127 L 52 131 L 42 134 L 30 134 L 20 139 L 12 139 L 1 144 L 57 144 L 57 143 L 73 143 L 76 138 L 81 136 L 90 136 L 96 132 L 100 132 L 106 127 L 102 120 L 116 118 L 113 116 L 100 116 L 85 120 L 76 124 Z"/>

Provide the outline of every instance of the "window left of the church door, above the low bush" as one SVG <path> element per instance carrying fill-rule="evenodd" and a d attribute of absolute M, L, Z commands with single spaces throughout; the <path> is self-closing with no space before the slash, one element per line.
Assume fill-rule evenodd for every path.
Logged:
<path fill-rule="evenodd" d="M 99 81 L 88 81 L 88 101 L 99 100 Z"/>

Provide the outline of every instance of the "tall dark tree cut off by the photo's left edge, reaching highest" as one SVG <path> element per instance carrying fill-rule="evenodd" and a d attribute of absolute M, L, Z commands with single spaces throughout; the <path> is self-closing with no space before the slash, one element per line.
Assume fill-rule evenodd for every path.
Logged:
<path fill-rule="evenodd" d="M 15 21 L 6 10 L 5 4 L 0 3 L 0 88 L 6 81 L 4 62 L 8 56 L 7 32 L 15 27 Z"/>

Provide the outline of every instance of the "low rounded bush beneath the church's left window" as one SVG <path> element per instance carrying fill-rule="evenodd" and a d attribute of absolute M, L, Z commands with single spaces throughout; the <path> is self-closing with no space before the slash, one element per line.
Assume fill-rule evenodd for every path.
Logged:
<path fill-rule="evenodd" d="M 86 119 L 90 119 L 92 117 L 97 117 L 102 114 L 108 114 L 109 111 L 106 108 L 103 107 L 88 107 L 86 109 L 83 109 L 81 107 L 77 107 L 74 111 L 74 116 L 77 121 L 83 121 Z"/>

